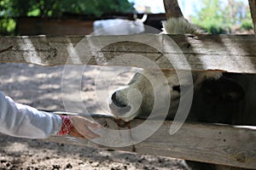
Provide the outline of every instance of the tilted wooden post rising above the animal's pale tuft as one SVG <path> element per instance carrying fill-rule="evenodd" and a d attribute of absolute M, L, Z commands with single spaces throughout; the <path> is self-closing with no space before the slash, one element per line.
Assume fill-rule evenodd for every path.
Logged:
<path fill-rule="evenodd" d="M 183 13 L 178 6 L 177 0 L 164 0 L 166 9 L 166 19 L 183 17 Z"/>

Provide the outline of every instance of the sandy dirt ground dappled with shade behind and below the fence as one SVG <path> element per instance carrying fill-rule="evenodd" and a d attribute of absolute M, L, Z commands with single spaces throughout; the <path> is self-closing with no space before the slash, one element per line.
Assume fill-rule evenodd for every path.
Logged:
<path fill-rule="evenodd" d="M 26 64 L 0 64 L 0 90 L 16 102 L 49 111 L 65 111 L 61 79 L 63 66 L 42 67 Z M 131 71 L 112 77 L 118 68 L 109 68 L 108 77 L 97 80 L 101 93 L 124 85 Z M 102 113 L 95 93 L 99 67 L 86 67 L 81 81 L 83 100 L 90 113 Z M 105 71 L 106 72 L 106 71 Z M 107 81 L 114 80 L 111 87 Z M 102 111 L 103 110 L 103 111 Z M 162 156 L 101 150 L 79 145 L 58 144 L 38 139 L 19 139 L 0 134 L 0 169 L 187 169 L 184 161 Z"/>

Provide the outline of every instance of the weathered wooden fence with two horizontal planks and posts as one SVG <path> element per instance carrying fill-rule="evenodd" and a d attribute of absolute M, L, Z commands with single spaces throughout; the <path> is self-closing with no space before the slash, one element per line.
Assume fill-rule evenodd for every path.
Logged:
<path fill-rule="evenodd" d="M 167 16 L 172 15 L 168 7 L 175 7 L 177 1 L 169 0 L 165 1 L 165 4 Z M 253 14 L 256 14 L 255 0 L 250 0 L 250 4 L 254 8 L 252 8 Z M 255 25 L 255 18 L 253 21 Z M 175 43 L 168 42 L 170 37 Z M 137 42 L 138 39 L 143 42 Z M 76 55 L 73 47 L 79 43 L 83 45 L 83 53 Z M 224 71 L 225 73 L 236 73 L 235 76 L 245 77 L 244 80 L 247 80 L 247 77 L 254 77 L 256 74 L 255 35 L 139 34 L 104 37 L 1 37 L 0 44 L 0 62 L 2 63 L 18 62 L 44 66 L 123 65 L 141 67 L 145 70 L 156 69 L 152 68 L 152 65 L 143 65 L 143 59 L 138 58 L 137 62 L 131 62 L 136 54 L 157 62 L 160 69 L 188 70 L 184 66 L 183 60 L 173 59 L 172 65 L 166 61 L 165 56 L 174 55 L 184 57 L 189 63 L 189 69 L 193 72 Z M 171 48 L 161 48 L 166 44 Z M 181 50 L 171 50 L 177 47 Z M 126 58 L 113 60 L 119 55 Z M 255 79 L 247 81 L 247 84 L 249 84 L 247 87 L 251 88 L 247 88 L 249 92 L 245 94 L 246 97 L 236 108 L 239 110 L 240 116 L 243 114 L 245 116 L 241 116 L 243 122 L 237 125 L 184 122 L 177 132 L 170 134 L 170 127 L 175 124 L 179 126 L 179 122 L 167 120 L 161 122 L 158 129 L 155 129 L 155 133 L 148 139 L 117 148 L 114 147 L 114 144 L 120 139 L 125 138 L 132 141 L 137 138 L 136 132 L 132 129 L 139 127 L 145 120 L 135 118 L 131 122 L 123 122 L 112 116 L 91 115 L 103 127 L 128 130 L 130 133 L 126 133 L 124 136 L 121 131 L 117 131 L 115 138 L 108 139 L 111 146 L 70 137 L 53 136 L 48 140 L 253 169 L 256 168 L 256 122 L 253 110 L 255 107 L 252 103 L 256 93 L 252 88 Z M 247 105 L 247 103 L 251 105 Z M 205 107 L 207 108 L 207 105 Z M 232 105 L 232 107 L 235 106 Z M 148 120 L 148 125 L 154 125 L 157 122 Z"/>

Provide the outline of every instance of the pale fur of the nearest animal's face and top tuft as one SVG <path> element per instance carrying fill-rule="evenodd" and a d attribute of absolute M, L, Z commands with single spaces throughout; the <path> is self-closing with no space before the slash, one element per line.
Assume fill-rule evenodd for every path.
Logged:
<path fill-rule="evenodd" d="M 163 32 L 165 34 L 200 34 L 202 31 L 197 28 L 197 26 L 191 25 L 188 20 L 184 18 L 172 18 L 166 21 L 163 21 Z M 154 93 L 162 98 L 166 98 L 166 92 L 163 92 L 163 88 L 169 86 L 170 94 L 172 98 L 171 105 L 162 103 L 158 105 L 156 110 L 162 112 L 163 105 L 170 105 L 170 110 L 168 118 L 173 118 L 179 105 L 180 98 L 180 89 L 179 87 L 190 87 L 191 84 L 187 82 L 186 77 L 190 74 L 190 71 L 183 71 L 183 77 L 180 82 L 179 78 L 175 71 L 163 70 L 162 73 L 165 75 L 168 84 L 162 82 L 160 77 L 157 76 L 157 72 L 154 71 L 138 71 L 137 74 L 131 79 L 131 82 L 128 86 L 124 88 L 119 88 L 115 91 L 112 96 L 112 102 L 110 103 L 110 109 L 113 112 L 113 115 L 124 120 L 125 122 L 131 121 L 133 118 L 140 116 L 145 117 L 150 114 L 152 105 L 154 105 Z M 150 82 L 144 76 L 149 77 Z M 195 90 L 201 87 L 201 82 L 204 82 L 206 79 L 217 80 L 222 77 L 221 71 L 202 71 L 201 73 L 194 72 L 192 73 L 193 80 L 195 82 Z M 153 92 L 153 87 L 151 82 L 156 82 L 156 90 Z M 155 88 L 155 87 L 154 87 Z M 129 94 L 132 89 L 137 89 L 139 93 Z M 138 101 L 139 98 L 143 96 L 142 101 Z M 133 101 L 130 101 L 133 100 Z M 170 99 L 166 99 L 170 101 Z M 135 105 L 132 105 L 135 104 Z M 140 107 L 138 107 L 138 103 Z"/>

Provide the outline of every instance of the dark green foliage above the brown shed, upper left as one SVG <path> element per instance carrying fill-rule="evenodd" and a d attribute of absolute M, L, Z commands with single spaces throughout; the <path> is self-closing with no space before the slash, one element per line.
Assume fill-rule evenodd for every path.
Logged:
<path fill-rule="evenodd" d="M 0 35 L 14 34 L 16 17 L 61 17 L 64 13 L 101 16 L 133 12 L 133 5 L 128 0 L 0 0 Z"/>

